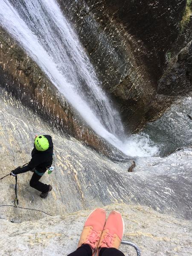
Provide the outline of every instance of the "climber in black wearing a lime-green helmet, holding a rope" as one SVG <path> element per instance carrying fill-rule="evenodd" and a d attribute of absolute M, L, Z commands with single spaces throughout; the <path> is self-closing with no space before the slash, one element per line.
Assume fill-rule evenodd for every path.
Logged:
<path fill-rule="evenodd" d="M 39 180 L 46 170 L 52 165 L 53 142 L 50 135 L 35 135 L 34 148 L 32 150 L 32 159 L 24 167 L 17 167 L 10 175 L 16 176 L 19 173 L 32 171 L 30 186 L 41 191 L 41 198 L 46 198 L 52 190 L 51 185 L 41 183 Z"/>

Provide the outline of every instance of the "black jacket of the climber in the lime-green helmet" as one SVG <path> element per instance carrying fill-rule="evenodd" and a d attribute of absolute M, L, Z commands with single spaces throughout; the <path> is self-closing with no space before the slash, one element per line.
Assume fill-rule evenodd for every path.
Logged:
<path fill-rule="evenodd" d="M 46 151 L 38 151 L 34 145 L 34 148 L 31 152 L 32 159 L 30 160 L 28 165 L 15 169 L 14 171 L 12 171 L 14 174 L 28 172 L 34 168 L 38 172 L 44 173 L 46 172 L 47 168 L 49 168 L 52 165 L 52 154 L 53 154 L 52 137 L 50 135 L 44 135 L 44 136 L 49 141 L 49 148 Z"/>

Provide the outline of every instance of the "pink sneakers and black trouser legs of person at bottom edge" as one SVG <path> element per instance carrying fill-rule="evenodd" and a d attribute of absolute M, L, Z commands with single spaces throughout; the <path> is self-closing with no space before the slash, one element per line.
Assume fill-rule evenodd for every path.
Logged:
<path fill-rule="evenodd" d="M 125 256 L 118 250 L 124 223 L 120 212 L 112 211 L 107 220 L 104 209 L 95 209 L 84 223 L 78 248 L 68 256 Z"/>

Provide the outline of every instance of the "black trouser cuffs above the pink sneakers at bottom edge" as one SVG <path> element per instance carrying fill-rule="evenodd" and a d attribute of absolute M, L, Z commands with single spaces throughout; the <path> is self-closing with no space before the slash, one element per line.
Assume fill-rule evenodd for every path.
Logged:
<path fill-rule="evenodd" d="M 76 251 L 70 253 L 68 256 L 92 256 L 92 250 L 89 244 L 83 244 L 77 248 Z M 102 248 L 99 256 L 125 256 L 121 251 L 116 248 Z"/>

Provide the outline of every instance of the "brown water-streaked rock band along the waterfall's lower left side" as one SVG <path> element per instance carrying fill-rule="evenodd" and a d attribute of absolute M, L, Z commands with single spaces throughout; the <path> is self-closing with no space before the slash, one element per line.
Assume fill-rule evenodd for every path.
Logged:
<path fill-rule="evenodd" d="M 44 72 L 4 29 L 0 29 L 0 46 L 2 87 L 47 120 L 49 125 L 103 154 L 113 155 L 113 148 L 82 120 Z"/>

